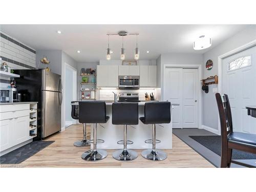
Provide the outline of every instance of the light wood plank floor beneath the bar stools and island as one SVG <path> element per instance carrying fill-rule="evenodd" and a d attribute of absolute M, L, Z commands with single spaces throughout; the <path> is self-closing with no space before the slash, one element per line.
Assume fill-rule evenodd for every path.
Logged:
<path fill-rule="evenodd" d="M 87 127 L 87 131 L 90 127 Z M 88 138 L 90 133 L 87 134 Z M 164 161 L 149 161 L 136 150 L 138 158 L 131 162 L 120 162 L 112 158 L 112 152 L 98 162 L 87 162 L 81 159 L 81 154 L 90 149 L 75 147 L 74 141 L 82 138 L 82 125 L 69 126 L 66 131 L 53 135 L 49 141 L 55 141 L 44 150 L 25 160 L 20 165 L 25 167 L 214 167 L 178 137 L 173 135 L 173 149 L 164 150 L 168 157 Z M 150 146 L 150 145 L 149 145 Z"/>

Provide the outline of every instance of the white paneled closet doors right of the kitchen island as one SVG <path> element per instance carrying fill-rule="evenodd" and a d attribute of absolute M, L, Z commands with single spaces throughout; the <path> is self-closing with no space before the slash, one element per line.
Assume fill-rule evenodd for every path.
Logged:
<path fill-rule="evenodd" d="M 166 68 L 164 100 L 174 105 L 173 128 L 198 127 L 198 69 Z"/>

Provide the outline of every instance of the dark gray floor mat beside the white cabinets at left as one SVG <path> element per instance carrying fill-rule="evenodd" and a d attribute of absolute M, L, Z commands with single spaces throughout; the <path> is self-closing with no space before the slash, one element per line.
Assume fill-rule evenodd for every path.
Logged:
<path fill-rule="evenodd" d="M 18 164 L 32 157 L 54 141 L 33 141 L 0 157 L 0 164 Z"/>

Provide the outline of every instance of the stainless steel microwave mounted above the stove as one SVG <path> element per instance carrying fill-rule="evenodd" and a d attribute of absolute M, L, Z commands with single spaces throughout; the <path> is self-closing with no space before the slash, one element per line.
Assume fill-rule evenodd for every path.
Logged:
<path fill-rule="evenodd" d="M 120 89 L 139 89 L 140 76 L 119 76 L 118 88 Z"/>

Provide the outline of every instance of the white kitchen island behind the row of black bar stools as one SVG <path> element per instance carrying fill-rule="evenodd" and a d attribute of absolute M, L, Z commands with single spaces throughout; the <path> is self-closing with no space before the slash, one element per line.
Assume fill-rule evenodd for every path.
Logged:
<path fill-rule="evenodd" d="M 97 148 L 108 150 L 123 148 L 123 145 L 117 144 L 117 141 L 123 140 L 123 125 L 112 124 L 112 103 L 106 102 L 106 115 L 110 116 L 109 121 L 107 123 L 97 124 L 97 139 L 103 139 L 105 141 L 104 143 L 97 143 Z M 139 102 L 139 117 L 144 116 L 144 104 L 145 102 Z M 91 133 L 93 133 L 93 126 L 95 124 L 91 125 Z M 134 143 L 127 145 L 127 148 L 152 148 L 152 144 L 144 142 L 146 139 L 152 139 L 152 124 L 143 124 L 139 120 L 139 124 L 132 126 L 127 125 L 127 140 L 131 140 Z M 93 139 L 93 134 L 91 134 L 91 139 Z M 157 148 L 172 148 L 172 118 L 168 124 L 156 124 L 156 139 L 161 140 L 161 143 L 156 144 Z M 92 147 L 93 144 L 91 144 Z"/>

